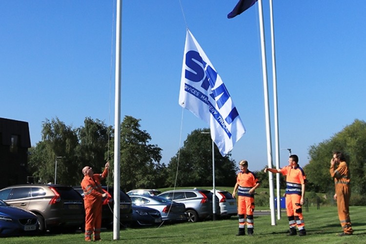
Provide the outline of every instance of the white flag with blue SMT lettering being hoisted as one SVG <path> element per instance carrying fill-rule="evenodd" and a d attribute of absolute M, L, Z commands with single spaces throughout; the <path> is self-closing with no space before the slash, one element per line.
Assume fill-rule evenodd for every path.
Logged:
<path fill-rule="evenodd" d="M 210 125 L 221 155 L 229 153 L 245 128 L 221 77 L 187 30 L 179 104 Z"/>

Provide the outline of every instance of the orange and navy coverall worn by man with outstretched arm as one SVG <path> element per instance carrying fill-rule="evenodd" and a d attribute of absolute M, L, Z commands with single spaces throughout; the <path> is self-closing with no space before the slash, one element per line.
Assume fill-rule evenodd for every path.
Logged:
<path fill-rule="evenodd" d="M 300 205 L 302 184 L 305 184 L 306 176 L 300 167 L 285 166 L 280 172 L 286 176 L 286 210 L 290 228 L 304 229 L 303 209 Z"/>

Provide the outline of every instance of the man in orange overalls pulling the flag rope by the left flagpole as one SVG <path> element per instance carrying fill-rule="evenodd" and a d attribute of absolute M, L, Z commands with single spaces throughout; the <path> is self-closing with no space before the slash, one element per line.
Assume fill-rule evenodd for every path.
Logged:
<path fill-rule="evenodd" d="M 81 188 L 84 191 L 85 207 L 85 241 L 91 242 L 91 235 L 94 232 L 94 241 L 101 240 L 102 225 L 102 198 L 107 194 L 103 193 L 101 181 L 108 175 L 109 162 L 105 164 L 102 174 L 94 174 L 89 166 L 82 168 L 84 178 L 81 181 Z"/>

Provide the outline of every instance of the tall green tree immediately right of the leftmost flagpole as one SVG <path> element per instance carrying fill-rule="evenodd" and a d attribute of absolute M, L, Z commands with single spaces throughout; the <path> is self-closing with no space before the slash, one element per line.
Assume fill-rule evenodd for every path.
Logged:
<path fill-rule="evenodd" d="M 120 182 L 124 190 L 156 187 L 165 167 L 160 164 L 162 149 L 149 144 L 151 136 L 140 129 L 140 121 L 132 116 L 125 116 L 121 123 Z M 114 140 L 110 143 L 113 144 Z"/>

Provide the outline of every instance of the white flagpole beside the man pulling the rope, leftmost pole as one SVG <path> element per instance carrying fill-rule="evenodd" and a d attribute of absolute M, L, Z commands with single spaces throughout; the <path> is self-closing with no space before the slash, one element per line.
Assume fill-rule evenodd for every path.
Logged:
<path fill-rule="evenodd" d="M 117 0 L 116 7 L 116 75 L 115 75 L 115 109 L 114 109 L 114 181 L 113 181 L 113 240 L 120 239 L 120 161 L 121 161 L 121 34 L 122 34 L 122 0 Z"/>

